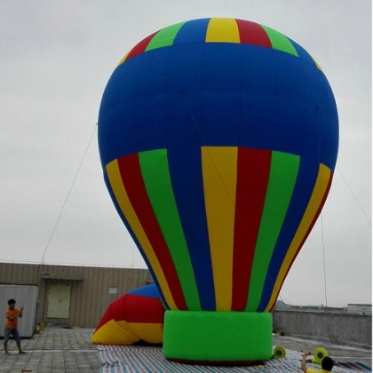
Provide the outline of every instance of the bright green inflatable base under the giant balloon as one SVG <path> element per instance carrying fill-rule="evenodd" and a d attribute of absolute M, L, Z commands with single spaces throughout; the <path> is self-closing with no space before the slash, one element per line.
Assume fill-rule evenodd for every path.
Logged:
<path fill-rule="evenodd" d="M 206 365 L 255 364 L 272 358 L 271 313 L 166 311 L 163 355 Z"/>

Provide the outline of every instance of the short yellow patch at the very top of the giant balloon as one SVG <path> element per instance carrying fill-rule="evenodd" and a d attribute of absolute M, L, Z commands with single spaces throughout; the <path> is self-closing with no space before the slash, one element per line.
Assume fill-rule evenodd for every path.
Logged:
<path fill-rule="evenodd" d="M 206 33 L 207 43 L 240 43 L 237 23 L 230 18 L 211 18 Z"/>

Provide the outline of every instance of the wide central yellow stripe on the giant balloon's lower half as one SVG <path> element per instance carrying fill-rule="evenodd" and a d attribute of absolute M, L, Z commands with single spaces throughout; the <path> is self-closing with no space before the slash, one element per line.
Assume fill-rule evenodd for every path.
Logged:
<path fill-rule="evenodd" d="M 232 305 L 236 147 L 202 147 L 204 201 L 218 311 Z"/>

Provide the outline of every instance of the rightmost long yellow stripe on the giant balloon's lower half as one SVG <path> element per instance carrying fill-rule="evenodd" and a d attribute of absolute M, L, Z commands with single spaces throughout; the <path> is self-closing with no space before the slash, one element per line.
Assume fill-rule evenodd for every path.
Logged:
<path fill-rule="evenodd" d="M 297 233 L 295 234 L 293 241 L 290 243 L 290 248 L 282 262 L 280 272 L 274 284 L 274 290 L 272 290 L 271 299 L 268 303 L 268 306 L 266 306 L 265 312 L 268 312 L 270 306 L 274 304 L 274 301 L 281 290 L 282 282 L 285 280 L 285 276 L 288 273 L 288 269 L 290 268 L 291 261 L 296 255 L 299 245 L 305 238 L 306 233 L 312 224 L 313 218 L 315 217 L 317 210 L 320 207 L 322 198 L 324 197 L 329 184 L 330 172 L 331 171 L 327 166 L 320 164 L 319 175 L 317 176 L 316 184 L 313 188 L 313 194 L 310 201 L 308 202 L 305 215 L 303 216 L 302 221 L 298 226 Z"/>

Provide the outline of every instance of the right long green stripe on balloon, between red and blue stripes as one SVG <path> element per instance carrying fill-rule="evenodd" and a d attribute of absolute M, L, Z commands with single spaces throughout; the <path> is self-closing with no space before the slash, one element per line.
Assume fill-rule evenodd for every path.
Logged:
<path fill-rule="evenodd" d="M 256 311 L 266 281 L 266 272 L 280 234 L 297 180 L 300 157 L 273 152 L 266 202 L 255 248 L 246 311 Z M 272 279 L 275 282 L 276 279 Z"/>

